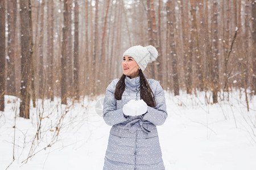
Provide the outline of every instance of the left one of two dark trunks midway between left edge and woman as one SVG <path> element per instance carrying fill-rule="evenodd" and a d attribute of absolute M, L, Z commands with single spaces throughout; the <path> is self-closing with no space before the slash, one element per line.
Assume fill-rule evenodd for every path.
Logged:
<path fill-rule="evenodd" d="M 63 37 L 61 45 L 61 104 L 67 104 L 67 80 L 66 80 L 66 70 L 67 70 L 67 55 L 68 55 L 68 12 L 69 12 L 69 0 L 64 2 L 64 25 L 62 28 Z"/>

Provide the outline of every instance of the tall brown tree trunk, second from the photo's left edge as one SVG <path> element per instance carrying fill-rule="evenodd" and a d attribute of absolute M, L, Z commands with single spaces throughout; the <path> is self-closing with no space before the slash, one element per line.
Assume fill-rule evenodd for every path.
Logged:
<path fill-rule="evenodd" d="M 16 0 L 7 1 L 7 22 L 8 22 L 8 40 L 7 40 L 7 78 L 6 94 L 16 96 L 15 81 L 15 39 L 16 39 Z"/>

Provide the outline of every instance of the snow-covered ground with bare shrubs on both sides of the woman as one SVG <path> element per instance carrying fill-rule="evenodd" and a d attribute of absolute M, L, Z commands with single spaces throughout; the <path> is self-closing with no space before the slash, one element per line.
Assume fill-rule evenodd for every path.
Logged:
<path fill-rule="evenodd" d="M 256 97 L 249 98 L 247 112 L 239 92 L 218 104 L 205 104 L 204 96 L 166 92 L 168 118 L 158 126 L 166 169 L 255 170 Z M 68 106 L 55 99 L 44 100 L 42 107 L 38 100 L 29 120 L 17 116 L 15 121 L 19 99 L 5 96 L 6 109 L 0 112 L 0 169 L 8 165 L 26 170 L 102 169 L 111 128 L 96 113 L 96 103 L 103 97 L 69 101 Z M 43 118 L 36 135 L 39 113 Z"/>

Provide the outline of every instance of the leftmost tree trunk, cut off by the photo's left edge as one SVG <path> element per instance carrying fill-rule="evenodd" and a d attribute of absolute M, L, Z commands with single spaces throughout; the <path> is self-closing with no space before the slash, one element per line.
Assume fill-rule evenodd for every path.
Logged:
<path fill-rule="evenodd" d="M 0 1 L 0 111 L 5 111 L 5 1 Z"/>

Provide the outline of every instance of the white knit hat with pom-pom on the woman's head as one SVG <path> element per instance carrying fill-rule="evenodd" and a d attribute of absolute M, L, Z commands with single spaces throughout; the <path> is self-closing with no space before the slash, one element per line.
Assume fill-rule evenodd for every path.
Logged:
<path fill-rule="evenodd" d="M 148 62 L 153 62 L 158 58 L 158 51 L 152 45 L 141 46 L 135 45 L 131 46 L 129 49 L 123 53 L 124 56 L 133 57 L 133 59 L 138 63 L 142 71 L 147 67 Z"/>

